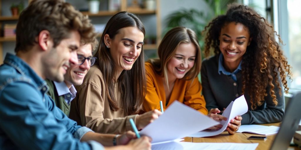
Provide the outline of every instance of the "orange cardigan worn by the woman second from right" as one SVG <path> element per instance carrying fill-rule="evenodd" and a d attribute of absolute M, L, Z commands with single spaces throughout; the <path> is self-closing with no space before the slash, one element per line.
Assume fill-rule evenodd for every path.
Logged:
<path fill-rule="evenodd" d="M 196 77 L 194 81 L 176 79 L 169 102 L 166 104 L 165 90 L 163 87 L 162 76 L 158 75 L 151 63 L 145 62 L 147 92 L 143 102 L 143 110 L 145 112 L 150 110 L 160 110 L 160 101 L 163 103 L 163 109 L 169 107 L 172 102 L 178 100 L 179 102 L 203 113 L 208 114 L 206 109 L 206 102 L 201 95 L 202 85 Z M 192 82 L 192 84 L 191 84 Z"/>

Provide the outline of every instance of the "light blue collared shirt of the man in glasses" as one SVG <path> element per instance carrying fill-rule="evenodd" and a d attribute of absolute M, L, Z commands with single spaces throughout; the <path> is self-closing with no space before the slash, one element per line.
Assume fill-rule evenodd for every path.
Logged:
<path fill-rule="evenodd" d="M 58 96 L 64 95 L 65 101 L 67 104 L 70 104 L 70 102 L 75 98 L 76 96 L 76 89 L 73 85 L 71 85 L 70 89 L 67 87 L 65 82 L 54 82 L 54 85 L 57 89 Z"/>

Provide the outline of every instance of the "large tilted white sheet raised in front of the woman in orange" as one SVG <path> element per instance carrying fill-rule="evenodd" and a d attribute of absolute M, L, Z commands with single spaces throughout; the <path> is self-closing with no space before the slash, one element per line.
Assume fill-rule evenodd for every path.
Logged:
<path fill-rule="evenodd" d="M 140 135 L 151 137 L 152 143 L 157 143 L 187 137 L 218 124 L 197 110 L 175 101 L 163 115 L 142 129 Z"/>

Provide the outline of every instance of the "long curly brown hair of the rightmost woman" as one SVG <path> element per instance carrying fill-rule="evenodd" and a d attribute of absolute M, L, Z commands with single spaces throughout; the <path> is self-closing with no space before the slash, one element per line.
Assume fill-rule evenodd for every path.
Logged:
<path fill-rule="evenodd" d="M 203 33 L 205 38 L 205 56 L 208 57 L 213 50 L 215 55 L 221 52 L 219 49 L 219 36 L 223 26 L 230 22 L 241 23 L 249 31 L 252 41 L 243 55 L 242 61 L 242 91 L 250 95 L 251 109 L 256 109 L 264 102 L 267 92 L 272 96 L 273 103 L 278 104 L 274 88 L 288 92 L 286 77 L 291 79 L 291 67 L 287 63 L 279 44 L 275 40 L 275 35 L 282 44 L 280 36 L 275 32 L 265 18 L 260 16 L 250 7 L 230 4 L 226 15 L 217 16 L 205 27 Z M 281 78 L 281 84 L 278 82 L 278 72 Z M 273 84 L 276 83 L 276 85 Z M 270 86 L 270 91 L 266 88 Z M 281 90 L 279 90 L 281 95 Z"/>

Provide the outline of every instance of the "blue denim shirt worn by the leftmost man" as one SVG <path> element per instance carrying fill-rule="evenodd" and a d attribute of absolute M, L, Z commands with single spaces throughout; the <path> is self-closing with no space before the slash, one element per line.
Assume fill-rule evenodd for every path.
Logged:
<path fill-rule="evenodd" d="M 79 141 L 91 130 L 55 106 L 46 82 L 19 57 L 7 54 L 0 76 L 0 149 L 103 149 Z"/>

